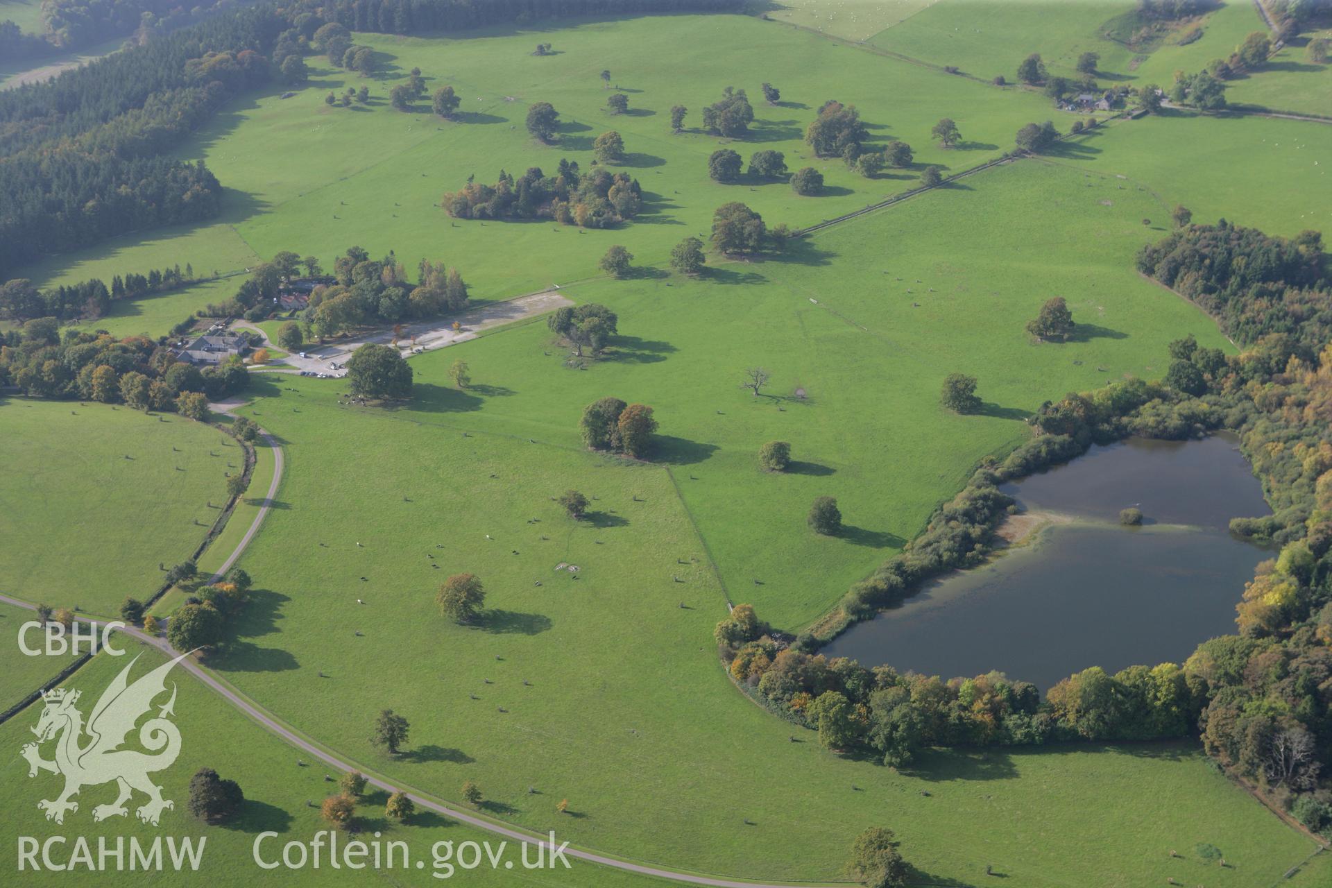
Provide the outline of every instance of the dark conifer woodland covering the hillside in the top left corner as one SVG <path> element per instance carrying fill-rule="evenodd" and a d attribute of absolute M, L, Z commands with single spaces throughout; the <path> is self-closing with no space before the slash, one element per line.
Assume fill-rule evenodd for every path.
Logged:
<path fill-rule="evenodd" d="M 196 222 L 221 209 L 222 185 L 202 161 L 164 152 L 232 97 L 273 79 L 304 77 L 293 57 L 329 23 L 354 31 L 460 31 L 550 16 L 729 12 L 738 0 L 344 0 L 242 7 L 145 39 L 41 84 L 0 93 L 0 281 L 52 252 L 112 234 Z M 121 0 L 55 7 L 61 27 L 153 12 Z M 75 24 L 77 20 L 77 24 Z M 87 25 L 95 27 L 95 25 Z M 96 24 L 100 27 L 100 24 Z M 0 28 L 0 52 L 28 45 Z M 605 197 L 605 196 L 602 196 Z"/>

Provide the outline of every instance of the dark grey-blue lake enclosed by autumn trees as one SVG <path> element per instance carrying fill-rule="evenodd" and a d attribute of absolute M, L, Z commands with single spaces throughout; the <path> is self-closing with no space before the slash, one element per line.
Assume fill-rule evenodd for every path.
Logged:
<path fill-rule="evenodd" d="M 944 678 L 998 670 L 1042 688 L 1090 666 L 1179 663 L 1235 631 L 1244 583 L 1272 556 L 1227 531 L 1269 513 L 1233 435 L 1092 447 L 1003 490 L 1070 523 L 928 583 L 823 652 Z M 1127 507 L 1142 527 L 1118 523 Z"/>

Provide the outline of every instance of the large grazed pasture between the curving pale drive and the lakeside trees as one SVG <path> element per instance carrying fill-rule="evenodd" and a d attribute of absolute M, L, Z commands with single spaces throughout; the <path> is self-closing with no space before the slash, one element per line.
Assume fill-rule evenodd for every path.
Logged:
<path fill-rule="evenodd" d="M 1171 847 L 1211 841 L 1244 861 L 1216 884 L 1239 885 L 1309 849 L 1189 747 L 951 752 L 910 774 L 831 755 L 719 670 L 726 590 L 662 466 L 565 445 L 563 422 L 535 443 L 484 431 L 473 411 L 500 386 L 449 393 L 428 367 L 414 411 L 338 405 L 336 382 L 258 386 L 248 413 L 288 442 L 290 507 L 242 559 L 257 588 L 210 662 L 370 767 L 450 797 L 474 779 L 538 829 L 569 799 L 582 844 L 747 877 L 838 877 L 847 836 L 875 823 L 966 884 L 987 864 L 1032 885 L 1143 884 Z M 597 498 L 590 521 L 550 501 L 569 487 Z M 433 603 L 457 571 L 488 587 L 474 627 Z M 417 755 L 366 743 L 381 707 L 412 720 Z M 1070 855 L 1054 839 L 1092 832 L 1116 840 Z"/>

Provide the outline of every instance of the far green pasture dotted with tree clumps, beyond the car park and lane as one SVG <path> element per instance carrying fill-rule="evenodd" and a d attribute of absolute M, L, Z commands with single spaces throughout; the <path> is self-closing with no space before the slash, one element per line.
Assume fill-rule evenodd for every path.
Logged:
<path fill-rule="evenodd" d="M 1036 96 L 1002 93 L 747 17 L 589 21 L 558 31 L 557 55 L 531 56 L 543 35 L 357 35 L 382 53 L 384 75 L 365 80 L 313 59 L 316 75 L 306 89 L 282 100 L 274 88 L 222 114 L 181 156 L 202 149 L 218 177 L 246 194 L 254 213 L 236 228 L 261 256 L 289 249 L 328 265 L 350 244 L 374 254 L 396 249 L 412 268 L 421 257 L 457 262 L 473 297 L 489 300 L 597 274 L 595 260 L 610 244 L 625 244 L 641 261 L 663 261 L 682 237 L 706 234 L 713 210 L 731 200 L 749 202 L 773 224 L 809 225 L 858 209 L 912 188 L 924 164 L 956 170 L 998 156 L 1046 107 Z M 729 57 L 727 71 L 753 72 L 754 83 L 717 73 L 711 63 L 721 56 Z M 774 65 L 774 57 L 782 64 Z M 417 65 L 432 92 L 444 84 L 458 89 L 458 122 L 440 120 L 425 103 L 417 113 L 388 105 L 389 88 Z M 610 91 L 598 76 L 603 68 L 629 95 L 629 114 L 606 113 Z M 782 89 L 781 107 L 763 103 L 762 80 Z M 361 84 L 369 85 L 372 105 L 324 104 L 326 92 Z M 671 105 L 691 108 L 686 124 L 694 128 L 702 105 L 729 84 L 753 97 L 758 121 L 751 138 L 670 133 Z M 846 170 L 840 160 L 809 157 L 805 126 L 832 97 L 855 103 L 876 141 L 910 141 L 916 166 L 871 181 Z M 535 101 L 553 103 L 566 121 L 559 145 L 537 145 L 527 136 L 523 120 Z M 967 140 L 962 149 L 930 144 L 930 126 L 943 116 L 959 122 Z M 607 129 L 623 134 L 629 157 L 621 168 L 646 192 L 646 212 L 621 229 L 579 233 L 553 222 L 454 221 L 437 206 L 440 196 L 461 188 L 469 174 L 490 182 L 501 168 L 554 168 L 561 157 L 587 169 L 593 137 Z M 786 182 L 713 182 L 707 156 L 723 142 L 746 158 L 771 148 L 786 153 L 791 169 L 813 164 L 825 170 L 829 193 L 799 197 Z M 494 249 L 497 229 L 506 244 L 501 250 Z"/>

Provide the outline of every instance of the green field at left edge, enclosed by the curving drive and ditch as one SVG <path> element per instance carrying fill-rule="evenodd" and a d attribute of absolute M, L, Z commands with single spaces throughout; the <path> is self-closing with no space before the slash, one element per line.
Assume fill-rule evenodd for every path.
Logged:
<path fill-rule="evenodd" d="M 226 462 L 238 466 L 238 454 L 226 435 L 174 414 L 0 401 L 9 467 L 0 481 L 0 590 L 100 615 L 116 615 L 127 596 L 145 599 L 161 583 L 159 562 L 184 560 L 208 533 L 226 497 Z"/>

